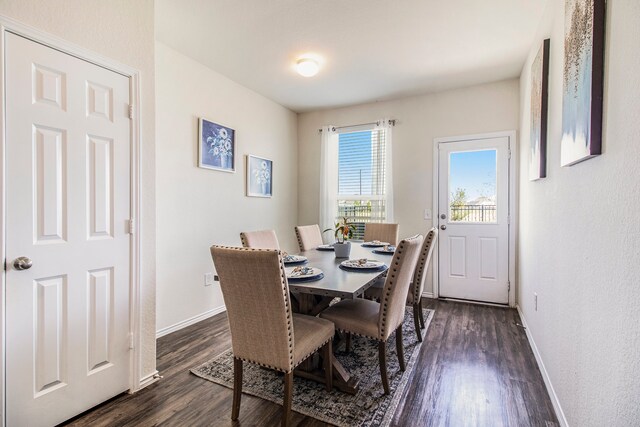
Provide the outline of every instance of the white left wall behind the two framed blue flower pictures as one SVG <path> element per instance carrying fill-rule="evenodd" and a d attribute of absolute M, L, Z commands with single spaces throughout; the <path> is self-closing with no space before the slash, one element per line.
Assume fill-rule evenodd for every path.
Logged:
<path fill-rule="evenodd" d="M 276 230 L 297 250 L 297 117 L 290 110 L 156 44 L 158 330 L 223 305 L 209 247 L 240 246 L 241 231 Z M 236 172 L 197 167 L 198 118 L 236 131 Z M 273 198 L 245 196 L 245 158 L 273 160 Z"/>

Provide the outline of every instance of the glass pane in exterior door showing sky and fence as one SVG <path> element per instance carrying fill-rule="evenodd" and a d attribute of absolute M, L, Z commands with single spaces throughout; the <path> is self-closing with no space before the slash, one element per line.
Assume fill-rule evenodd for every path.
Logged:
<path fill-rule="evenodd" d="M 496 154 L 496 150 L 450 154 L 449 221 L 496 222 Z"/>

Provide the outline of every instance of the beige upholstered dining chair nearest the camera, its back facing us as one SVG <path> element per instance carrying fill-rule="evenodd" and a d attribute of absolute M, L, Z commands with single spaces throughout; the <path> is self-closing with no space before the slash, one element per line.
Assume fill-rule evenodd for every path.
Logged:
<path fill-rule="evenodd" d="M 293 314 L 282 252 L 212 246 L 211 257 L 229 318 L 233 349 L 233 408 L 240 415 L 242 364 L 255 363 L 284 373 L 282 425 L 290 425 L 293 369 L 323 348 L 325 385 L 332 388 L 331 321 Z"/>

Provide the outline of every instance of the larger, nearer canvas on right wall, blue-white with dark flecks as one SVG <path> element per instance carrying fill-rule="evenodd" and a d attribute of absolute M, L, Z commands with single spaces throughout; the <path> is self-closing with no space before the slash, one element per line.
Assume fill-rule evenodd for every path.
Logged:
<path fill-rule="evenodd" d="M 566 0 L 562 166 L 602 149 L 605 0 Z"/>

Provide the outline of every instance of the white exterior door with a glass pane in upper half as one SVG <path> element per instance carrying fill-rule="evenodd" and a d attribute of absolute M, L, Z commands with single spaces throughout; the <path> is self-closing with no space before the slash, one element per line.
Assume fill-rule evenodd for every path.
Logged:
<path fill-rule="evenodd" d="M 509 137 L 438 145 L 439 296 L 509 302 Z"/>

